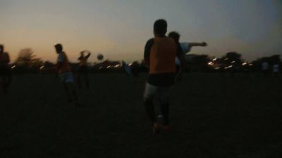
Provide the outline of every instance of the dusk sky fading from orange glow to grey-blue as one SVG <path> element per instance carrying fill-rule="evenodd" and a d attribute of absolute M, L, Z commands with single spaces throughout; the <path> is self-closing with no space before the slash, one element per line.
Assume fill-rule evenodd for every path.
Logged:
<path fill-rule="evenodd" d="M 190 53 L 220 57 L 237 51 L 246 60 L 282 55 L 281 0 L 0 0 L 0 44 L 12 60 L 32 48 L 56 60 L 63 44 L 71 61 L 82 50 L 111 60 L 141 60 L 154 21 L 164 18 L 180 41 L 206 41 Z"/>

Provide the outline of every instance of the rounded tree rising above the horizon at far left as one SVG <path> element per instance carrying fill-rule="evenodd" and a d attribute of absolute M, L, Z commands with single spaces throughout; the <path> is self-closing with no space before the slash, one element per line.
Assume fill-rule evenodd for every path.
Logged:
<path fill-rule="evenodd" d="M 18 53 L 18 58 L 16 59 L 16 65 L 23 67 L 41 67 L 43 61 L 40 58 L 36 58 L 34 52 L 31 48 L 24 48 Z"/>

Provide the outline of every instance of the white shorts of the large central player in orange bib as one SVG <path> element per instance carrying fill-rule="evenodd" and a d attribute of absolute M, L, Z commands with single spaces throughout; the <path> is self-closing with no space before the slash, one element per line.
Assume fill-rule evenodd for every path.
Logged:
<path fill-rule="evenodd" d="M 159 103 L 168 103 L 169 87 L 154 86 L 147 83 L 144 92 L 144 100 L 156 99 Z"/>

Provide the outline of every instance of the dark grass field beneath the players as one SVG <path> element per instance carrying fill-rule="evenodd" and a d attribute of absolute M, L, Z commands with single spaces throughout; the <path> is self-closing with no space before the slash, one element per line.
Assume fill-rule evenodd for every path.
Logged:
<path fill-rule="evenodd" d="M 75 107 L 55 75 L 13 76 L 0 98 L 0 157 L 282 157 L 282 79 L 185 74 L 171 88 L 171 131 L 159 136 L 140 79 L 92 74 Z"/>

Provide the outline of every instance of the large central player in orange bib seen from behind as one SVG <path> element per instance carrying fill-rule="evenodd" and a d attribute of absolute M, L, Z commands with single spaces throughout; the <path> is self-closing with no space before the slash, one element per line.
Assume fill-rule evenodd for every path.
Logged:
<path fill-rule="evenodd" d="M 180 45 L 170 37 L 166 37 L 166 20 L 154 22 L 154 38 L 149 39 L 145 46 L 144 60 L 149 67 L 149 76 L 145 86 L 144 103 L 149 119 L 153 124 L 153 133 L 158 134 L 160 125 L 154 112 L 153 100 L 157 100 L 163 115 L 163 129 L 169 129 L 168 91 L 176 78 L 175 58 L 185 63 Z M 180 77 L 180 75 L 178 75 Z"/>

